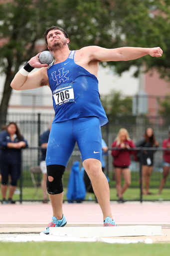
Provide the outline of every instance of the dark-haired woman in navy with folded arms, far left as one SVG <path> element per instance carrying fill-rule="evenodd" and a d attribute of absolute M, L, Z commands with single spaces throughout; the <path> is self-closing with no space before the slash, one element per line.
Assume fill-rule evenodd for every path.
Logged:
<path fill-rule="evenodd" d="M 0 132 L 0 146 L 2 147 L 0 149 L 2 203 L 15 203 L 12 200 L 12 196 L 20 176 L 21 148 L 28 146 L 27 141 L 20 134 L 20 130 L 15 122 L 10 122 L 6 130 Z M 6 201 L 8 175 L 11 177 L 11 182 L 9 185 L 8 201 Z"/>

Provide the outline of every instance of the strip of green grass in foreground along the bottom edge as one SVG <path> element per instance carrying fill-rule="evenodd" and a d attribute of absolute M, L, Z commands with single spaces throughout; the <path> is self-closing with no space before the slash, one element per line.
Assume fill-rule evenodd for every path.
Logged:
<path fill-rule="evenodd" d="M 100 242 L 1 242 L 2 256 L 167 256 L 170 244 L 109 244 Z"/>

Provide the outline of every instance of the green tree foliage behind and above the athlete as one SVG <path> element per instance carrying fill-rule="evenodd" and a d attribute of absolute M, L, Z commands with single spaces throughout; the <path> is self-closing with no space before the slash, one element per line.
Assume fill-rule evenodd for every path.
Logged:
<path fill-rule="evenodd" d="M 170 76 L 170 0 L 1 1 L 0 69 L 6 79 L 0 117 L 7 112 L 13 76 L 39 51 L 37 42 L 52 25 L 69 33 L 71 49 L 93 44 L 107 48 L 161 46 L 161 58 L 146 56 L 108 64 L 115 65 L 119 74 L 136 65 L 137 75 L 145 63 L 147 69 L 156 67 L 162 76 Z"/>

